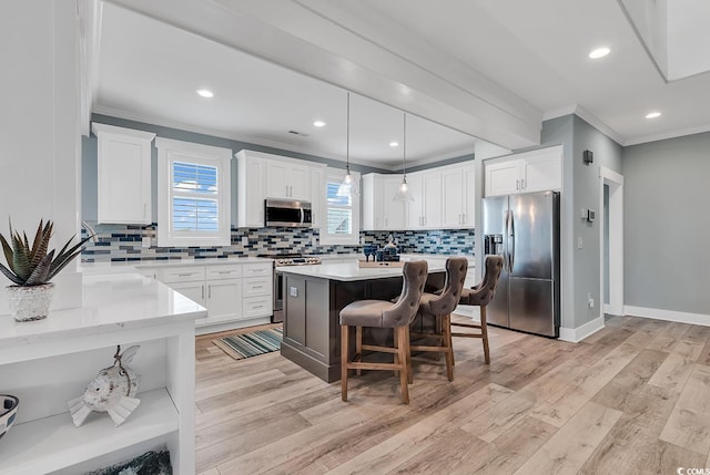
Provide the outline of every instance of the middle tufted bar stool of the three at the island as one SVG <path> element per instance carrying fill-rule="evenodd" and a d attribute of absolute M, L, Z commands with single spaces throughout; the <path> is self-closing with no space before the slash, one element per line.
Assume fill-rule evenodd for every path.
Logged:
<path fill-rule="evenodd" d="M 440 293 L 424 292 L 419 300 L 417 318 L 433 318 L 436 321 L 436 329 L 442 333 L 425 333 L 425 337 L 437 337 L 442 344 L 434 345 L 410 345 L 410 351 L 435 351 L 443 352 L 446 357 L 446 375 L 449 381 L 454 381 L 454 349 L 452 347 L 452 312 L 458 304 L 468 260 L 465 257 L 449 257 L 446 259 L 446 280 Z"/>

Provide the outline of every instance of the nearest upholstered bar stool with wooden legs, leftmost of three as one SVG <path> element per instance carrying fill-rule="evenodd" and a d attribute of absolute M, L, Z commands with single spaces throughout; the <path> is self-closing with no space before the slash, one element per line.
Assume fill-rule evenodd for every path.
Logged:
<path fill-rule="evenodd" d="M 387 370 L 399 371 L 402 402 L 409 404 L 409 323 L 419 308 L 419 299 L 428 275 L 426 260 L 412 260 L 402 269 L 404 283 L 399 299 L 395 302 L 385 300 L 358 300 L 341 310 L 341 395 L 347 401 L 348 370 Z M 355 327 L 356 354 L 349 360 L 349 330 Z M 363 327 L 392 328 L 394 330 L 394 348 L 363 344 Z M 371 363 L 362 361 L 363 350 L 393 353 L 393 363 Z"/>

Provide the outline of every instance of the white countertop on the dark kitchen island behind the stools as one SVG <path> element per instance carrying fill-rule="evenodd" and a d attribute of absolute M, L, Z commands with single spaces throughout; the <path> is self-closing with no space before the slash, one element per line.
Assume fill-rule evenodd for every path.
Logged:
<path fill-rule="evenodd" d="M 416 260 L 416 259 L 409 259 Z M 446 271 L 446 259 L 426 259 L 429 272 Z M 384 279 L 402 276 L 402 267 L 358 267 L 357 259 L 341 262 L 323 262 L 315 266 L 284 266 L 276 270 L 283 273 L 315 277 L 341 281 Z"/>

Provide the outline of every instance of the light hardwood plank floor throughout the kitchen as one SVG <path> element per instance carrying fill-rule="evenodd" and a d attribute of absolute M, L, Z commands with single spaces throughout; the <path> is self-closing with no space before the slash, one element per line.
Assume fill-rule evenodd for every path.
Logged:
<path fill-rule="evenodd" d="M 462 317 L 454 316 L 454 319 Z M 489 327 L 393 373 L 327 384 L 277 352 L 196 344 L 197 473 L 676 474 L 710 466 L 710 327 L 633 317 L 567 343 Z"/>

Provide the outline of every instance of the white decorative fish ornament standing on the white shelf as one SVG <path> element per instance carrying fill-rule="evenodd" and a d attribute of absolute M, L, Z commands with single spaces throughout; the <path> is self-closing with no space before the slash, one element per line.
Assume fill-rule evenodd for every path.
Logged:
<path fill-rule="evenodd" d="M 140 376 L 128 365 L 140 348 L 130 347 L 121 353 L 119 345 L 113 355 L 113 365 L 99 371 L 83 395 L 67 401 L 77 427 L 83 424 L 92 411 L 108 412 L 118 427 L 138 407 L 141 401 L 135 397 L 135 393 Z"/>

